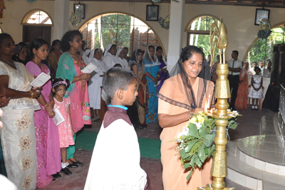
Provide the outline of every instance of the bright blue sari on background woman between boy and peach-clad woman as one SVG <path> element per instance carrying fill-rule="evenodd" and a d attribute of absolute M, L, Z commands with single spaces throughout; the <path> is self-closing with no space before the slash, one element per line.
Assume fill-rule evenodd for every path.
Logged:
<path fill-rule="evenodd" d="M 156 78 L 157 72 L 160 71 L 160 63 L 150 63 L 146 58 L 142 60 L 145 65 L 145 72 L 150 73 L 153 78 Z M 152 79 L 146 77 L 148 86 L 148 113 L 145 115 L 145 122 L 157 122 L 157 107 L 158 101 L 156 97 L 156 86 Z"/>

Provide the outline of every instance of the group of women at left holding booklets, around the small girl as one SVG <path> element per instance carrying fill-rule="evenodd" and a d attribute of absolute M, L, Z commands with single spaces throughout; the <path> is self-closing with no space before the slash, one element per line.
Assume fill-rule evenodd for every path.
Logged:
<path fill-rule="evenodd" d="M 74 140 L 76 132 L 84 125 L 90 125 L 90 104 L 87 81 L 90 74 L 82 73 L 86 67 L 81 56 L 76 53 L 82 46 L 82 34 L 68 31 L 62 38 L 61 50 L 55 78 L 72 81 L 65 97 L 71 99 L 71 120 Z M 58 56 L 58 42 L 53 52 Z M 53 94 L 51 80 L 39 88 L 32 88 L 31 82 L 41 73 L 51 74 L 43 60 L 48 58 L 48 43 L 36 38 L 31 42 L 29 61 L 26 65 L 25 54 L 21 56 L 23 46 L 18 49 L 13 38 L 7 33 L 0 34 L 0 92 L 8 103 L 1 103 L 3 115 L 1 121 L 1 174 L 6 175 L 18 189 L 36 189 L 47 186 L 61 175 L 61 147 L 58 127 L 53 122 Z M 19 51 L 20 53 L 17 53 Z M 27 49 L 24 49 L 27 52 Z M 50 53 L 49 56 L 52 56 Z M 19 58 L 20 62 L 14 61 Z M 11 98 L 11 100 L 9 99 Z M 1 149 L 1 150 L 2 150 Z M 67 149 L 68 167 L 74 168 L 83 163 L 74 158 L 75 146 Z M 2 162 L 2 160 L 4 162 Z M 71 171 L 64 170 L 65 174 Z"/>

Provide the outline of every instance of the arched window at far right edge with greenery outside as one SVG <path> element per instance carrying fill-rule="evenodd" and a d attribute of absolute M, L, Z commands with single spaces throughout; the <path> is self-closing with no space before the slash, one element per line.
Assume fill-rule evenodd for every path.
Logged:
<path fill-rule="evenodd" d="M 276 26 L 272 29 L 271 35 L 267 39 L 259 38 L 252 48 L 247 53 L 246 61 L 254 63 L 263 60 L 266 65 L 266 60 L 271 59 L 273 55 L 274 44 L 285 43 L 285 25 Z"/>

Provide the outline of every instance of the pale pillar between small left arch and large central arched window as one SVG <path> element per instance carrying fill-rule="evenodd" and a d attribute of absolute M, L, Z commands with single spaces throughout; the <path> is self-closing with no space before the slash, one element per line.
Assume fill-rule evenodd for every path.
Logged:
<path fill-rule="evenodd" d="M 61 40 L 68 31 L 69 0 L 54 1 L 53 40 Z"/>

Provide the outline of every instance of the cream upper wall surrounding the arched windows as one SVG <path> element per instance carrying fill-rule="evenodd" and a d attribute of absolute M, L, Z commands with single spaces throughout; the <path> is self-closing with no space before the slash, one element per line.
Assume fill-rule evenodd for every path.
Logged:
<path fill-rule="evenodd" d="M 76 1 L 71 1 L 69 12 L 73 11 L 73 3 Z M 110 12 L 121 12 L 125 14 L 130 14 L 138 17 L 145 21 L 146 5 L 150 3 L 126 3 L 126 2 L 100 2 L 100 1 L 81 1 L 81 3 L 86 4 L 86 19 L 83 23 L 92 19 L 94 16 L 100 14 L 110 13 Z M 170 4 L 158 4 L 160 5 L 160 16 L 165 18 L 165 16 L 170 11 Z M 34 4 L 29 4 L 24 0 L 11 0 L 5 1 L 4 9 L 5 18 L 2 19 L 3 24 L 1 28 L 4 32 L 11 34 L 16 43 L 22 41 L 23 26 L 21 25 L 21 20 L 24 15 L 31 11 L 32 9 L 43 9 L 48 14 L 51 15 L 51 19 L 54 20 L 54 1 L 36 1 Z M 256 7 L 247 6 L 217 6 L 217 5 L 197 5 L 197 4 L 185 4 L 185 18 L 184 18 L 184 28 L 187 23 L 195 19 L 197 16 L 203 14 L 213 15 L 222 17 L 224 23 L 227 26 L 228 37 L 229 37 L 229 47 L 227 48 L 226 58 L 230 58 L 230 54 L 233 50 L 239 51 L 239 59 L 244 59 L 245 53 L 252 42 L 257 38 L 257 32 L 259 26 L 254 26 Z M 270 8 L 270 21 L 272 25 L 276 23 L 285 23 L 285 9 Z M 69 14 L 70 16 L 70 14 Z M 171 18 L 171 17 L 170 17 Z M 172 21 L 172 20 L 170 20 Z M 145 21 L 149 24 L 154 31 L 157 33 L 158 37 L 162 41 L 162 46 L 165 48 L 165 52 L 168 52 L 168 33 L 169 31 L 161 28 L 160 24 L 155 21 Z M 80 28 L 82 24 L 79 24 L 76 28 L 71 26 L 69 23 L 69 30 L 74 30 Z M 53 28 L 52 28 L 53 31 Z M 53 33 L 52 37 L 53 39 Z M 187 32 L 183 35 L 183 46 L 187 43 Z M 171 49 L 170 49 L 171 51 Z"/>

